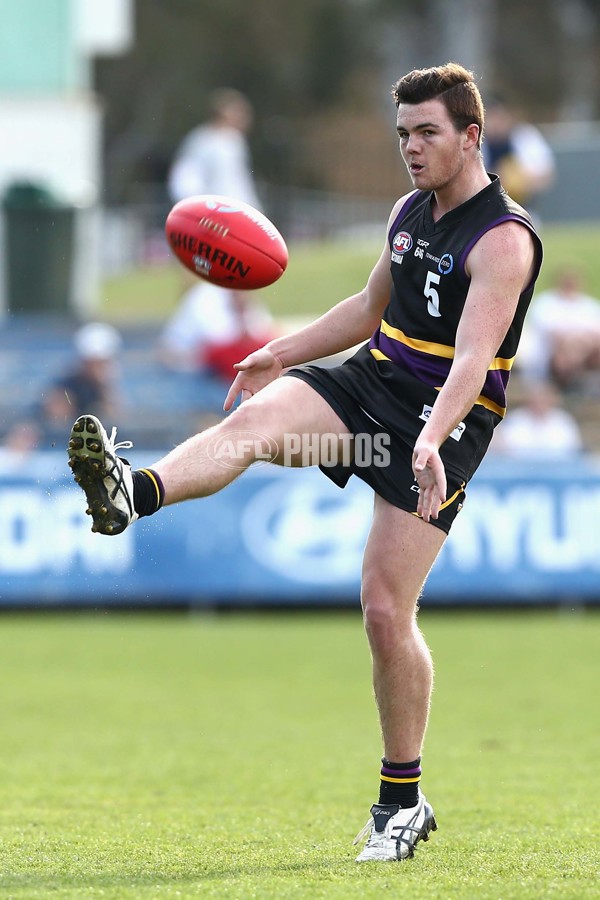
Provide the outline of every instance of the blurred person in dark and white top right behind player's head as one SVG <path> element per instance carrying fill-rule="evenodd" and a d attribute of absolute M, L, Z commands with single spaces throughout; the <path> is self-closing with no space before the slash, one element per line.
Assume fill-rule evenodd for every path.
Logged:
<path fill-rule="evenodd" d="M 511 197 L 535 210 L 536 197 L 554 180 L 554 154 L 541 131 L 520 121 L 499 96 L 486 103 L 482 153 L 486 169 L 500 176 Z"/>

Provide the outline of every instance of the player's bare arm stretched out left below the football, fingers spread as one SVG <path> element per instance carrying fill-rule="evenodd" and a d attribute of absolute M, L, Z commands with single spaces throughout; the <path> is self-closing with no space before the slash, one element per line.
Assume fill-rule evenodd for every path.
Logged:
<path fill-rule="evenodd" d="M 388 230 L 405 200 L 406 197 L 401 197 L 394 205 Z M 270 341 L 235 366 L 238 375 L 229 389 L 224 409 L 232 407 L 238 394 L 242 394 L 242 400 L 247 399 L 290 366 L 323 359 L 368 340 L 389 302 L 391 285 L 390 250 L 386 239 L 361 291 L 341 300 L 305 328 Z"/>

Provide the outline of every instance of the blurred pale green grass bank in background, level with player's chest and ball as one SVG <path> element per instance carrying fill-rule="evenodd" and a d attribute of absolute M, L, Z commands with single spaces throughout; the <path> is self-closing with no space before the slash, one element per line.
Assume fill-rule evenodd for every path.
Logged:
<path fill-rule="evenodd" d="M 586 290 L 600 297 L 600 225 L 548 226 L 542 237 L 545 263 L 538 291 L 548 287 L 558 269 L 570 265 L 583 273 Z M 261 295 L 277 317 L 317 316 L 360 290 L 381 246 L 358 240 L 292 245 L 284 276 Z M 163 320 L 177 305 L 184 274 L 174 262 L 108 279 L 102 286 L 102 311 L 116 322 Z"/>

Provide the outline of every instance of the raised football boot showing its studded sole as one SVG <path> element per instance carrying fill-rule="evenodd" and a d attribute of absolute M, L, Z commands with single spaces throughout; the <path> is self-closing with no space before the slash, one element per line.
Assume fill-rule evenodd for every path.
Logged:
<path fill-rule="evenodd" d="M 117 450 L 132 447 L 131 441 L 115 443 L 117 429 L 110 437 L 95 416 L 79 416 L 71 429 L 69 465 L 88 502 L 92 531 L 121 534 L 138 515 L 133 508 L 131 466 Z"/>

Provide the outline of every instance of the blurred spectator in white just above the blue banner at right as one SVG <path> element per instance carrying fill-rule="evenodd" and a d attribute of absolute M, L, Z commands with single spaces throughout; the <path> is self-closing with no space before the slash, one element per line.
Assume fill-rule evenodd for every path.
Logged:
<path fill-rule="evenodd" d="M 530 384 L 522 406 L 508 410 L 496 429 L 493 449 L 513 459 L 572 459 L 583 451 L 579 424 L 561 406 L 550 382 Z"/>

